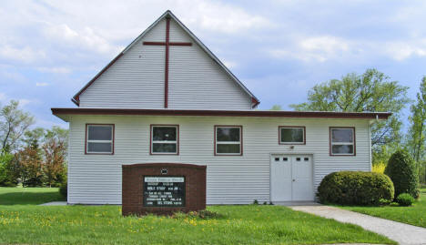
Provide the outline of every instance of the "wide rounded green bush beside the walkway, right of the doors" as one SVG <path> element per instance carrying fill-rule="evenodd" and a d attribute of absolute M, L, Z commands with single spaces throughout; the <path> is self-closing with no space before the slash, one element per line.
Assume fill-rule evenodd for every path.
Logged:
<path fill-rule="evenodd" d="M 321 203 L 385 205 L 393 199 L 393 184 L 380 173 L 341 171 L 324 177 L 318 188 Z"/>

